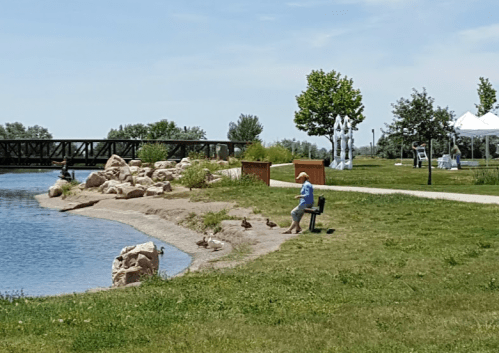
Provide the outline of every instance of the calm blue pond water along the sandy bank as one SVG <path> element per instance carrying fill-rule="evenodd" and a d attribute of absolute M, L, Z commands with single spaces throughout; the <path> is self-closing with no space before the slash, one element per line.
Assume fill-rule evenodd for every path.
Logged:
<path fill-rule="evenodd" d="M 125 246 L 153 241 L 165 247 L 160 274 L 173 276 L 191 263 L 177 248 L 114 221 L 42 208 L 60 171 L 0 174 L 0 293 L 28 296 L 108 287 L 113 260 Z M 91 171 L 75 171 L 86 180 Z"/>

